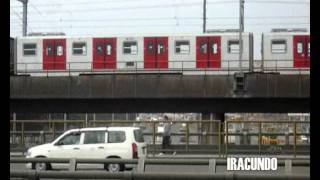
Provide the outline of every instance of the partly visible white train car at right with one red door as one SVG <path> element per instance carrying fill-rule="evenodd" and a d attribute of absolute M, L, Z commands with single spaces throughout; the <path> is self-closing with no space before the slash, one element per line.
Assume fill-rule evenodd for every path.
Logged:
<path fill-rule="evenodd" d="M 262 34 L 262 70 L 282 74 L 309 73 L 310 34 L 271 32 Z"/>

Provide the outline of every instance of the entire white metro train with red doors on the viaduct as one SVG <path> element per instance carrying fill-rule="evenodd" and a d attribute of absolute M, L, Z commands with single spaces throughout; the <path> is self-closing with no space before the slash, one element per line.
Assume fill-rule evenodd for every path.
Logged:
<path fill-rule="evenodd" d="M 261 60 L 254 60 L 253 33 L 143 36 L 31 36 L 14 39 L 14 73 L 65 76 L 94 73 L 235 72 L 309 73 L 308 32 L 273 31 L 261 36 Z"/>

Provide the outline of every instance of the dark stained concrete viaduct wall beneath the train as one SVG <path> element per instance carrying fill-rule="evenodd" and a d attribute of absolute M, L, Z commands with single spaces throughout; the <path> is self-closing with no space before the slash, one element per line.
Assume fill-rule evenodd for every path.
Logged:
<path fill-rule="evenodd" d="M 10 106 L 12 112 L 15 108 L 45 112 L 309 111 L 309 75 L 247 74 L 245 79 L 245 91 L 236 93 L 234 77 L 225 75 L 11 76 Z"/>

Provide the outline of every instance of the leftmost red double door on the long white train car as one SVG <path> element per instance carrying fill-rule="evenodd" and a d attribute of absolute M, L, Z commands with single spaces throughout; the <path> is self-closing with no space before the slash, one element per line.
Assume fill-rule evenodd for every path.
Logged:
<path fill-rule="evenodd" d="M 43 39 L 43 69 L 66 69 L 65 39 Z"/>

